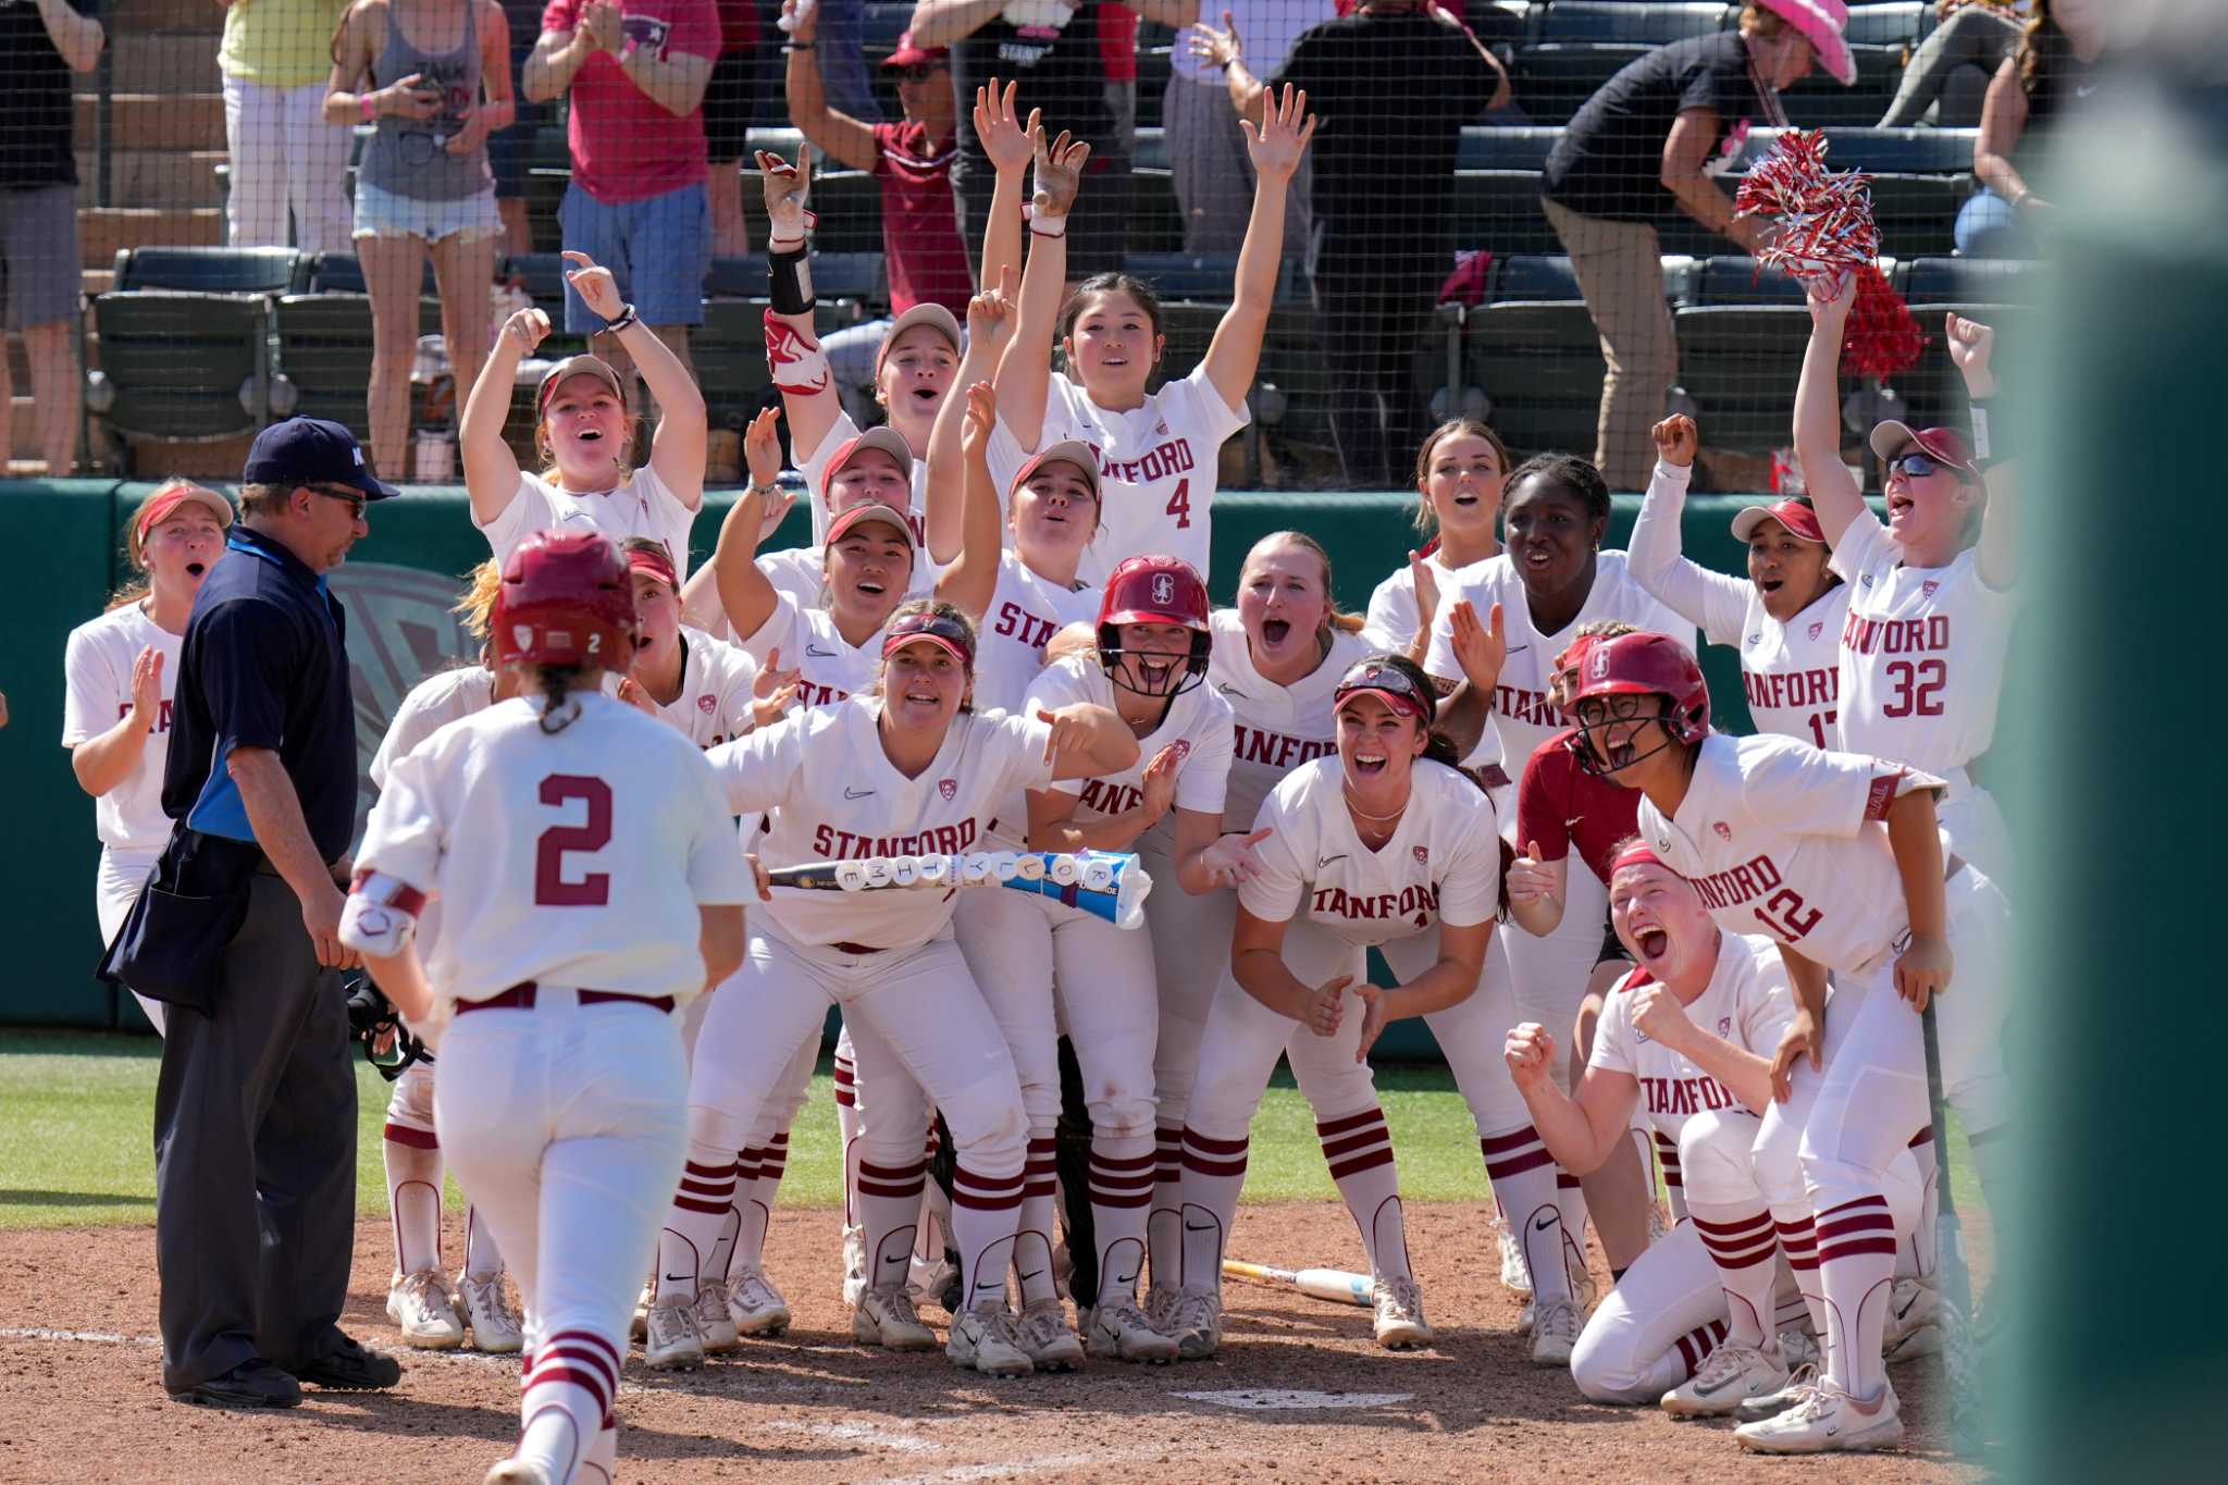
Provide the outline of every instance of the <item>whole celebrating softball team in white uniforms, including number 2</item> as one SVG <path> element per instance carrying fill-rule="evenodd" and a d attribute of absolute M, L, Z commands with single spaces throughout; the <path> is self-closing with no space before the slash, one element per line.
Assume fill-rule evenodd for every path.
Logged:
<path fill-rule="evenodd" d="M 996 107 L 978 127 L 1020 131 Z M 1366 617 L 1299 530 L 1219 608 L 1216 450 L 1310 131 L 1290 94 L 1248 127 L 1234 307 L 1156 390 L 1147 285 L 1063 307 L 1083 158 L 1036 136 L 1025 272 L 985 245 L 1005 260 L 965 327 L 896 321 L 869 432 L 818 347 L 804 183 L 766 160 L 782 410 L 695 570 L 702 399 L 610 274 L 573 283 L 659 403 L 644 465 L 626 378 L 575 356 L 541 383 L 546 468 L 519 470 L 501 412 L 548 323 L 506 327 L 461 441 L 483 659 L 399 708 L 341 922 L 430 1046 L 388 1109 L 388 1309 L 412 1347 L 524 1354 L 490 1481 L 610 1481 L 631 1343 L 677 1369 L 784 1331 L 769 1216 L 831 1006 L 827 1240 L 862 1345 L 989 1376 L 1212 1356 L 1283 1058 L 1377 1340 L 1430 1347 L 1370 1073 L 1386 1024 L 1424 1017 L 1499 1211 L 1435 1260 L 1497 1262 L 1535 1363 L 1593 1400 L 1738 1414 L 1747 1449 L 1900 1438 L 1896 1363 L 1965 1320 L 1938 1282 L 1941 1102 L 1983 1187 L 2010 1115 L 2010 848 L 1972 775 L 2014 579 L 1990 330 L 1945 334 L 1972 436 L 1872 432 L 1883 521 L 1838 448 L 1854 294 L 1814 294 L 1809 499 L 1736 517 L 1745 574 L 1680 554 L 1691 419 L 1655 427 L 1629 550 L 1602 550 L 1591 463 L 1511 468 L 1453 421 L 1417 452 L 1433 539 Z M 815 543 L 762 554 L 784 421 Z M 149 603 L 221 557 L 205 496 L 134 523 Z M 85 737 L 167 695 L 154 612 L 74 637 Z M 1713 726 L 1700 643 L 1738 650 L 1753 735 Z M 147 799 L 100 808 L 102 899 L 129 906 Z M 443 1171 L 472 1204 L 455 1280 Z"/>

